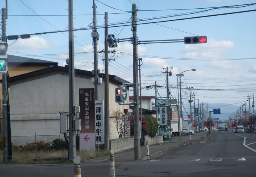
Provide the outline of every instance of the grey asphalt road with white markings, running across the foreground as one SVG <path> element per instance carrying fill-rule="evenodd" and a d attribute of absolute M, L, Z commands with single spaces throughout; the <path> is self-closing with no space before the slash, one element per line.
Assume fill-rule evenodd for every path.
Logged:
<path fill-rule="evenodd" d="M 133 155 L 133 154 L 131 154 Z M 125 159 L 125 158 L 124 158 Z M 256 134 L 215 132 L 204 144 L 182 146 L 158 159 L 116 160 L 116 177 L 256 176 Z M 81 164 L 82 177 L 109 177 L 109 161 Z M 73 165 L 0 165 L 0 177 L 71 177 Z"/>

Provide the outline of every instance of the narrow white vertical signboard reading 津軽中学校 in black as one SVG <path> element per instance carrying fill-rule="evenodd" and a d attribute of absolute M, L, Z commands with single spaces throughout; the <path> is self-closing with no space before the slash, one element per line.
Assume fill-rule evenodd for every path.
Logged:
<path fill-rule="evenodd" d="M 95 144 L 104 144 L 104 101 L 95 100 Z"/>

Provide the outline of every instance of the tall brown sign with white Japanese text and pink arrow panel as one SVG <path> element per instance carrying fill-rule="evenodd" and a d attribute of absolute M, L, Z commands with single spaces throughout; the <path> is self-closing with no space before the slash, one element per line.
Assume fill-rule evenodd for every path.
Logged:
<path fill-rule="evenodd" d="M 80 150 L 95 149 L 95 91 L 79 89 L 80 105 Z"/>

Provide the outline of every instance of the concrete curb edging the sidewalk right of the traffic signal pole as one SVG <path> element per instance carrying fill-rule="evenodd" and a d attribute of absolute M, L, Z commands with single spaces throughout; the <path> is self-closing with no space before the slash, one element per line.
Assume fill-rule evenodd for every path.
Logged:
<path fill-rule="evenodd" d="M 183 146 L 186 146 L 188 144 L 202 144 L 202 143 L 206 143 L 206 142 L 207 142 L 207 140 L 198 140 L 198 141 L 193 141 L 193 142 L 186 142 L 186 143 L 183 144 Z M 152 154 L 150 154 L 148 156 L 142 157 L 141 160 L 152 160 L 152 159 L 155 159 L 156 157 L 158 157 L 160 155 L 163 155 L 163 154 L 166 154 L 169 151 L 173 151 L 173 150 L 177 149 L 180 146 L 182 146 L 182 145 L 174 145 L 174 146 L 169 147 L 167 149 L 163 149 L 161 151 L 152 153 Z"/>

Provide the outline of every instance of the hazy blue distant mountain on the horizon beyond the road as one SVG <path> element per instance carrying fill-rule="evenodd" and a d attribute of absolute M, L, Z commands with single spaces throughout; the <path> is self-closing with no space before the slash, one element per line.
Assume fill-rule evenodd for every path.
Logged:
<path fill-rule="evenodd" d="M 189 113 L 190 107 L 188 106 L 189 106 L 188 104 L 186 105 L 184 104 L 186 111 Z M 193 112 L 194 111 L 193 104 L 191 106 L 192 106 L 192 112 Z M 228 117 L 229 116 L 232 117 L 233 112 L 236 112 L 237 110 L 239 110 L 240 107 L 235 105 L 229 105 L 228 103 L 208 103 L 208 117 L 209 117 L 209 111 L 213 111 L 213 109 L 221 109 L 221 114 L 213 114 L 212 112 L 211 113 L 212 118 L 220 118 L 220 120 L 227 120 Z M 206 103 L 204 104 L 204 110 L 206 110 Z M 183 117 L 187 117 L 187 113 L 185 111 L 183 112 Z"/>

